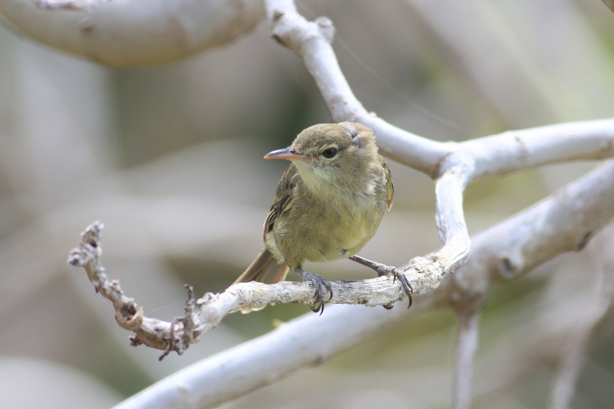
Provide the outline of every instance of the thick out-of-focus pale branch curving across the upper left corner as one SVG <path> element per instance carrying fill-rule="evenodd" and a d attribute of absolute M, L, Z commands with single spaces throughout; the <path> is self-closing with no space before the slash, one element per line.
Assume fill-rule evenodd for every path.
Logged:
<path fill-rule="evenodd" d="M 16 31 L 111 67 L 173 63 L 251 31 L 262 0 L 2 0 Z"/>

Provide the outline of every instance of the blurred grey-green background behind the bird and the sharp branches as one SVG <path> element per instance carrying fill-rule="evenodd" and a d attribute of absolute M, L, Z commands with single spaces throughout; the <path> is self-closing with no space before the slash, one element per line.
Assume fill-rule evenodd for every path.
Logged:
<path fill-rule="evenodd" d="M 333 46 L 365 107 L 421 136 L 465 140 L 612 116 L 614 14 L 599 0 L 298 7 L 335 23 Z M 270 39 L 265 22 L 225 47 L 147 69 L 107 69 L 0 26 L 0 407 L 107 408 L 271 331 L 276 319 L 311 313 L 280 305 L 233 314 L 183 356 L 158 362 L 160 351 L 129 346 L 111 306 L 66 258 L 101 219 L 109 277 L 147 315 L 181 315 L 184 283 L 196 294 L 223 291 L 262 250 L 286 166 L 262 156 L 330 120 L 300 58 Z M 474 183 L 471 234 L 595 165 Z M 400 266 L 440 242 L 432 181 L 391 168 L 394 207 L 360 255 Z M 495 289 L 481 319 L 474 407 L 545 407 L 559 354 L 613 270 L 613 234 L 604 229 L 581 253 Z M 373 275 L 349 261 L 306 267 L 329 279 Z M 455 334 L 448 310 L 410 311 L 405 323 L 223 408 L 311 408 L 314 399 L 446 408 Z M 589 342 L 573 407 L 612 407 L 613 342 L 610 311 Z"/>

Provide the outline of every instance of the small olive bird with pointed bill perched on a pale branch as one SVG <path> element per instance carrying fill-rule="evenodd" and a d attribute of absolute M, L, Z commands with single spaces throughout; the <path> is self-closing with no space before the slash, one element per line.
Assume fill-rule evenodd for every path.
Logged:
<path fill-rule="evenodd" d="M 303 263 L 349 258 L 380 277 L 392 273 L 411 305 L 412 289 L 400 270 L 356 256 L 377 231 L 394 197 L 390 169 L 378 153 L 373 131 L 351 122 L 317 124 L 298 134 L 289 148 L 269 152 L 265 159 L 292 163 L 266 216 L 265 249 L 235 283 L 278 283 L 292 270 L 313 283 L 319 305 L 311 309 L 322 313 L 325 293 L 333 296 L 331 285 L 304 271 Z"/>

